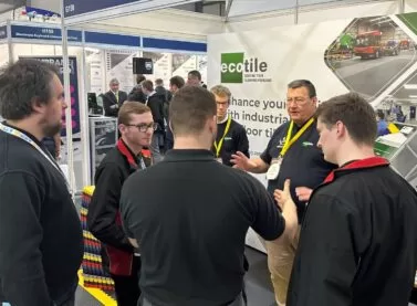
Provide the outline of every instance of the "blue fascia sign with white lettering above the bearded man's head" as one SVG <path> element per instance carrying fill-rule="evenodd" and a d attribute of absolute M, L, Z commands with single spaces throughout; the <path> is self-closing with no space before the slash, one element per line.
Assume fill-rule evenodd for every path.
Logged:
<path fill-rule="evenodd" d="M 61 29 L 46 27 L 29 27 L 29 25 L 11 25 L 11 36 L 13 39 L 24 40 L 42 40 L 42 41 L 61 41 Z M 81 31 L 69 30 L 69 42 L 82 42 L 83 35 Z"/>

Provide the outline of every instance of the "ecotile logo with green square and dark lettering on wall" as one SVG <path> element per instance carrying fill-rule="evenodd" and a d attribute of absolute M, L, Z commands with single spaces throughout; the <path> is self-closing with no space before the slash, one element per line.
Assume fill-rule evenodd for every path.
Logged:
<path fill-rule="evenodd" d="M 243 52 L 221 54 L 221 83 L 271 82 L 263 75 L 267 71 L 267 62 L 246 59 Z"/>

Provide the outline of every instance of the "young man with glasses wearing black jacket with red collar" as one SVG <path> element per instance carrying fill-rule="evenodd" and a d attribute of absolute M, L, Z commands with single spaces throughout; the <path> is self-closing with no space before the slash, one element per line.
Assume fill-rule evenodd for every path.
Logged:
<path fill-rule="evenodd" d="M 149 146 L 154 128 L 149 107 L 138 102 L 123 104 L 118 112 L 121 138 L 96 171 L 95 190 L 88 207 L 87 225 L 103 243 L 103 263 L 108 261 L 118 306 L 136 306 L 140 296 L 140 257 L 134 253 L 121 223 L 122 186 L 129 175 L 150 166 L 150 159 L 140 152 L 143 147 Z"/>

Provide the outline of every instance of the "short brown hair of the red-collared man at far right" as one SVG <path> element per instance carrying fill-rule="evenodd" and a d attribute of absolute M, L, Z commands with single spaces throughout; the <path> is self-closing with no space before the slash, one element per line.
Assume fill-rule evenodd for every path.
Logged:
<path fill-rule="evenodd" d="M 315 117 L 327 128 L 342 122 L 355 143 L 374 146 L 377 133 L 375 110 L 357 93 L 335 96 L 323 102 L 320 104 Z"/>

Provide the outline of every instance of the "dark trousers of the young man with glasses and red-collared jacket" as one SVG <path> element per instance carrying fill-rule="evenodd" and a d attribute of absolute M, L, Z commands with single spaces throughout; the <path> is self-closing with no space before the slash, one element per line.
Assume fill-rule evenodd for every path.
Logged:
<path fill-rule="evenodd" d="M 119 276 L 112 274 L 116 293 L 117 306 L 136 306 L 140 296 L 139 275 L 140 257 L 135 256 L 133 261 L 131 276 Z"/>

